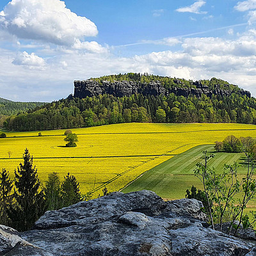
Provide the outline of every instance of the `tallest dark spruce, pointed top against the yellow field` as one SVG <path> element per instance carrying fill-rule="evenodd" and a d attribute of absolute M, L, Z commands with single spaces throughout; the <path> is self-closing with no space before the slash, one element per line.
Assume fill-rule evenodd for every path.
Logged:
<path fill-rule="evenodd" d="M 26 148 L 24 163 L 15 170 L 15 205 L 10 208 L 9 217 L 13 227 L 19 231 L 28 230 L 45 212 L 44 192 L 40 190 L 37 169 L 33 166 L 33 157 Z"/>

